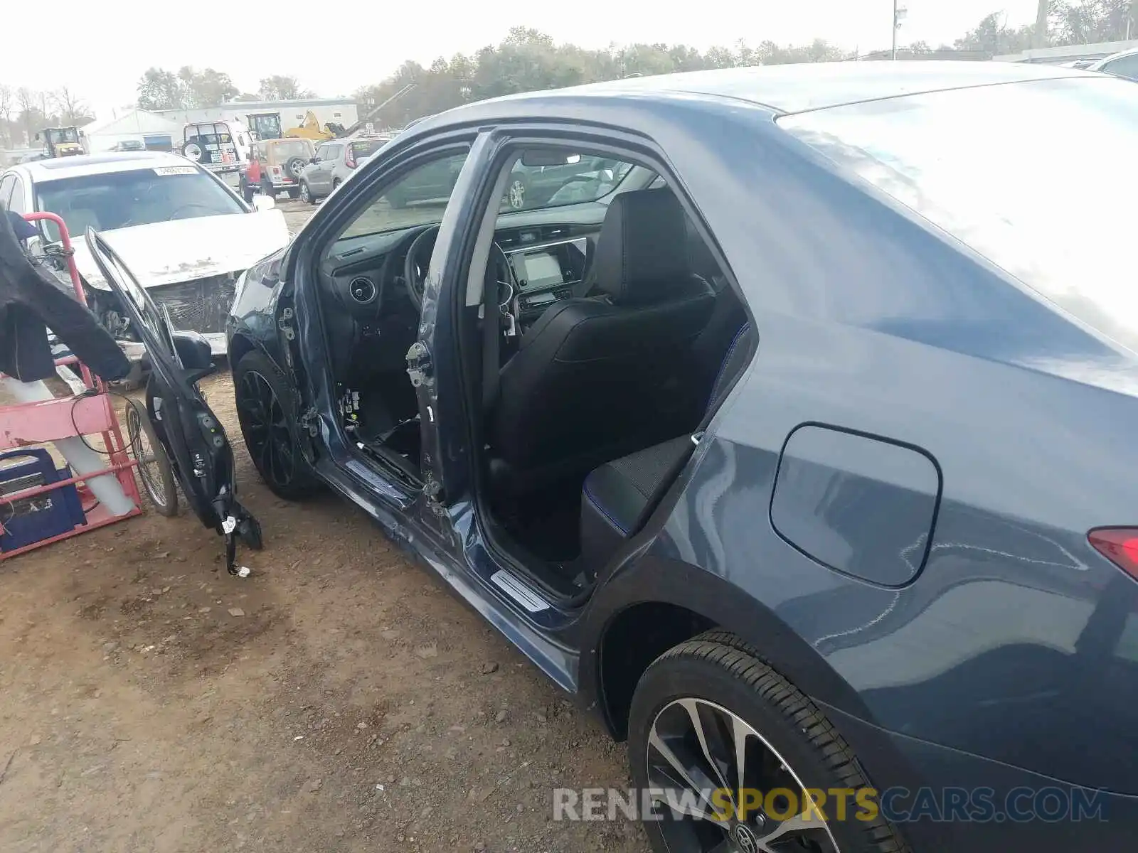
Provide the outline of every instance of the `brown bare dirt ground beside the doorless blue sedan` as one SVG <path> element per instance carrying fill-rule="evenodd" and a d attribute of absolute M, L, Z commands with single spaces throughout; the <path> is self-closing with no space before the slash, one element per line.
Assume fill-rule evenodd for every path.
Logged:
<path fill-rule="evenodd" d="M 228 577 L 183 507 L 0 563 L 0 850 L 644 853 L 552 820 L 622 747 L 361 512 L 274 498 L 203 386 L 265 549 Z"/>

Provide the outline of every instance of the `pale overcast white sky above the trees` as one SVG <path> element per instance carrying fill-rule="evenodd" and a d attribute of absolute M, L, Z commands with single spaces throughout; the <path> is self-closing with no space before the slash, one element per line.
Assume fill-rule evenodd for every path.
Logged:
<path fill-rule="evenodd" d="M 1037 6 L 1037 0 L 899 2 L 908 9 L 898 34 L 901 45 L 918 40 L 951 43 L 993 11 L 1005 13 L 1009 26 L 1026 24 L 1034 20 Z M 34 33 L 44 26 L 42 3 L 9 6 L 0 13 L 6 32 Z M 228 10 L 218 14 L 222 8 Z M 249 92 L 257 90 L 261 77 L 290 74 L 319 96 L 336 97 L 381 81 L 406 59 L 429 65 L 439 56 L 473 53 L 496 44 L 514 25 L 585 48 L 667 42 L 706 50 L 733 45 L 740 39 L 752 45 L 765 40 L 785 45 L 825 39 L 867 52 L 889 47 L 892 19 L 892 0 L 802 5 L 789 0 L 571 0 L 546 7 L 517 0 L 434 0 L 429 5 L 274 0 L 228 7 L 53 0 L 50 9 L 50 35 L 5 41 L 0 83 L 36 90 L 67 85 L 94 107 L 99 118 L 133 103 L 138 80 L 150 66 L 212 67 Z M 250 17 L 250 11 L 263 11 L 265 17 Z M 265 38 L 250 38 L 254 24 L 266 32 Z"/>

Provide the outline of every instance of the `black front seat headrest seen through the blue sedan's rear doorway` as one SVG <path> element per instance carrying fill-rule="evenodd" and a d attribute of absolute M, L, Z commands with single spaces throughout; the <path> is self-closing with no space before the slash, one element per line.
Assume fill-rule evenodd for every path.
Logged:
<path fill-rule="evenodd" d="M 669 189 L 621 192 L 596 240 L 595 281 L 613 304 L 660 301 L 691 283 L 686 215 Z"/>

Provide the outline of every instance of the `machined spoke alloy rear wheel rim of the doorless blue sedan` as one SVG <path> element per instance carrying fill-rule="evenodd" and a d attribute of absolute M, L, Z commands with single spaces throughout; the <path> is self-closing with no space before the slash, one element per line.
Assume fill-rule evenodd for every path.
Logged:
<path fill-rule="evenodd" d="M 794 770 L 720 705 L 668 703 L 652 721 L 645 762 L 674 853 L 840 853 Z"/>

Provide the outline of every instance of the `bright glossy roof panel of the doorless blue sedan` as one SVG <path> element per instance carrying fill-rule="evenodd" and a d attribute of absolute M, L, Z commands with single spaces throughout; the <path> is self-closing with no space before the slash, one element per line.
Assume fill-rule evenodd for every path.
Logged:
<path fill-rule="evenodd" d="M 1088 72 L 1077 68 L 1029 63 L 960 60 L 802 63 L 629 77 L 569 89 L 510 94 L 483 103 L 505 105 L 512 101 L 518 105 L 537 105 L 567 96 L 580 98 L 637 96 L 661 100 L 708 96 L 749 101 L 778 113 L 799 113 L 918 92 L 1088 75 Z M 464 111 L 478 106 L 472 103 L 442 115 L 457 118 Z M 516 115 L 518 110 L 509 111 Z M 430 124 L 436 123 L 430 122 Z"/>

